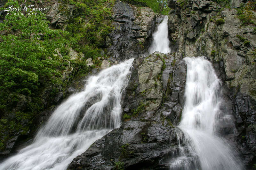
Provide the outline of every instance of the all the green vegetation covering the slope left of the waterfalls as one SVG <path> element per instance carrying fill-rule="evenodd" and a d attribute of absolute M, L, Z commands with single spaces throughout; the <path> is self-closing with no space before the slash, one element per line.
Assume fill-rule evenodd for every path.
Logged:
<path fill-rule="evenodd" d="M 40 6 L 39 2 L 26 3 Z M 72 78 L 87 74 L 95 67 L 86 65 L 87 58 L 100 64 L 96 58 L 102 57 L 101 49 L 106 47 L 105 40 L 112 31 L 114 1 L 63 3 L 74 5 L 73 17 L 65 31 L 51 29 L 45 14 L 39 15 L 39 11 L 29 16 L 6 15 L 0 24 L 1 151 L 13 137 L 33 133 L 38 114 L 56 103 L 54 98 L 58 93 L 63 94 Z M 4 7 L 8 5 L 20 6 L 13 0 Z M 72 48 L 79 53 L 75 58 L 70 54 Z M 49 94 L 44 96 L 44 91 Z"/>

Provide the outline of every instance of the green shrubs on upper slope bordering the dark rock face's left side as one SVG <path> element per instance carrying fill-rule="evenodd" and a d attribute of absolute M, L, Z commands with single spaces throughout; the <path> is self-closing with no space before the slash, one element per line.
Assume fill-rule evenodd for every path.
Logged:
<path fill-rule="evenodd" d="M 100 56 L 98 48 L 105 47 L 105 40 L 113 29 L 111 26 L 111 10 L 113 0 L 69 1 L 75 5 L 74 18 L 70 20 L 66 30 L 71 47 L 84 53 L 85 59 Z"/>

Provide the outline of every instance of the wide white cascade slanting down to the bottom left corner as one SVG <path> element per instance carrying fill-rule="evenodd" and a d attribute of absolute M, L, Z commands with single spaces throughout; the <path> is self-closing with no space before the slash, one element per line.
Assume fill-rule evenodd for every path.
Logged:
<path fill-rule="evenodd" d="M 90 145 L 121 122 L 121 98 L 133 59 L 88 79 L 83 92 L 54 111 L 35 141 L 0 164 L 1 170 L 66 169 Z"/>

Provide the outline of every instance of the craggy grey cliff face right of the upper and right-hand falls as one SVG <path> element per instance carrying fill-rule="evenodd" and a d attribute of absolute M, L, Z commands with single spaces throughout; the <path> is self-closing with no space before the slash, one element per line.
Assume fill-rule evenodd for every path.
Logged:
<path fill-rule="evenodd" d="M 256 35 L 252 25 L 242 26 L 236 10 L 246 2 L 169 0 L 168 24 L 177 57 L 204 55 L 214 64 L 238 130 L 236 136 L 224 137 L 239 145 L 245 165 L 252 168 L 256 163 Z M 225 5 L 231 8 L 223 8 Z"/>

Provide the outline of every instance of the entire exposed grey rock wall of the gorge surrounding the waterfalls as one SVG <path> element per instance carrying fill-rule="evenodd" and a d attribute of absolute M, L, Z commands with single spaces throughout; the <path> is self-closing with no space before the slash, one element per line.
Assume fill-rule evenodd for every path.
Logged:
<path fill-rule="evenodd" d="M 186 64 L 182 58 L 202 55 L 213 63 L 223 82 L 225 107 L 222 110 L 233 113 L 236 122 L 235 135 L 232 129 L 221 127 L 220 136 L 238 146 L 239 156 L 252 169 L 256 164 L 256 36 L 251 26 L 241 26 L 237 18 L 236 8 L 245 3 L 232 0 L 230 8 L 223 8 L 225 4 L 213 1 L 169 0 L 172 53 L 149 55 L 147 49 L 152 33 L 163 16 L 150 8 L 116 1 L 112 14 L 114 30 L 106 38 L 108 66 L 135 57 L 122 103 L 123 123 L 77 156 L 68 169 L 169 169 L 180 155 L 177 139 L 183 136 L 176 128 L 181 119 L 186 82 Z M 65 29 L 73 7 L 56 2 L 46 14 L 50 26 Z M 217 25 L 220 18 L 225 23 Z M 244 44 L 237 35 L 249 40 L 249 44 Z M 79 54 L 71 49 L 69 55 Z M 92 74 L 97 71 L 94 69 Z M 64 79 L 71 72 L 63 75 Z M 84 78 L 73 82 L 66 89 L 66 96 L 83 86 Z M 45 98 L 47 94 L 46 88 Z M 61 99 L 63 93 L 51 102 L 57 104 Z M 37 124 L 47 121 L 55 108 L 44 110 Z M 18 137 L 19 134 L 8 141 L 4 156 L 14 150 Z M 180 142 L 186 146 L 182 140 Z"/>

